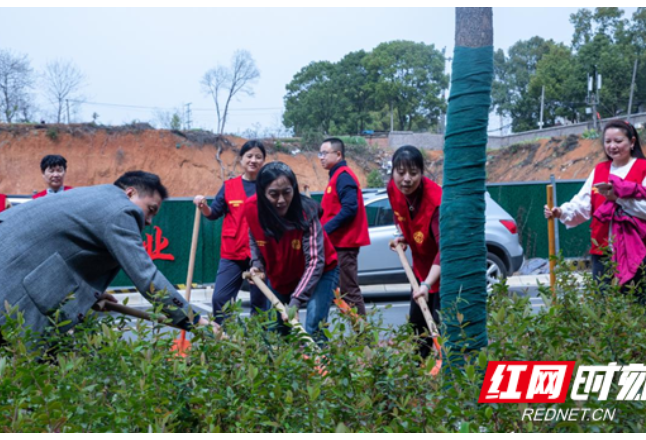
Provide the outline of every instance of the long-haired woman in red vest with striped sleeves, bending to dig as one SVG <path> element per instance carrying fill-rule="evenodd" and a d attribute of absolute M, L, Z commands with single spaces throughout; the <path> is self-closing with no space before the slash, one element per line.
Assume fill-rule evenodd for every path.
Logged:
<path fill-rule="evenodd" d="M 339 283 L 338 259 L 321 221 L 318 203 L 301 197 L 294 172 L 282 162 L 265 166 L 257 193 L 247 202 L 251 272 L 264 277 L 276 296 L 296 310 L 307 307 L 305 330 L 317 341 Z M 282 319 L 282 320 L 281 320 Z M 289 329 L 279 318 L 279 331 Z"/>

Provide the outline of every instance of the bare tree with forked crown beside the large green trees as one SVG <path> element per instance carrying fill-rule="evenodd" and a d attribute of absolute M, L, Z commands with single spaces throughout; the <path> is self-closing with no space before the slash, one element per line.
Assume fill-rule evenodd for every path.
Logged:
<path fill-rule="evenodd" d="M 224 134 L 229 115 L 229 105 L 234 96 L 253 96 L 252 84 L 260 77 L 251 54 L 237 50 L 231 59 L 231 67 L 218 65 L 202 78 L 202 87 L 213 98 L 218 115 L 218 133 Z"/>

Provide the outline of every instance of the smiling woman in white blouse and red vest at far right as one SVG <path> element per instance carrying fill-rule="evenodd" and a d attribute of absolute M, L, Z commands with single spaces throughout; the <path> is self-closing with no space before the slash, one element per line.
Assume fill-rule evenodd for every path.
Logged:
<path fill-rule="evenodd" d="M 629 122 L 612 121 L 603 130 L 603 143 L 608 158 L 592 171 L 583 188 L 569 203 L 550 209 L 545 206 L 545 218 L 560 219 L 568 228 L 579 226 L 592 219 L 593 274 L 596 281 L 608 283 L 614 274 L 606 271 L 608 259 L 605 251 L 611 245 L 611 223 L 597 218 L 598 211 L 606 202 L 615 204 L 615 215 L 646 220 L 646 200 L 643 198 L 619 197 L 618 188 L 630 183 L 632 187 L 646 186 L 646 157 L 642 151 L 639 134 Z M 643 258 L 643 257 L 642 257 Z M 631 281 L 643 281 L 643 269 L 634 271 Z M 630 284 L 630 283 L 627 283 Z"/>

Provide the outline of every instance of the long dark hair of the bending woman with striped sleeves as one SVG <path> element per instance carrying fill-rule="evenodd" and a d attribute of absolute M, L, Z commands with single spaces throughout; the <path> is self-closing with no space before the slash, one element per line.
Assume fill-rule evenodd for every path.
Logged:
<path fill-rule="evenodd" d="M 294 198 L 287 211 L 285 218 L 278 215 L 276 208 L 267 199 L 265 194 L 267 188 L 281 176 L 286 177 L 294 189 Z M 272 162 L 265 165 L 258 173 L 256 179 L 256 194 L 258 195 L 258 217 L 260 226 L 267 237 L 280 240 L 288 230 L 298 229 L 306 231 L 309 227 L 305 218 L 304 209 L 307 209 L 308 216 L 313 214 L 316 202 L 309 202 L 309 199 L 301 197 L 298 190 L 298 180 L 290 167 L 283 162 Z"/>

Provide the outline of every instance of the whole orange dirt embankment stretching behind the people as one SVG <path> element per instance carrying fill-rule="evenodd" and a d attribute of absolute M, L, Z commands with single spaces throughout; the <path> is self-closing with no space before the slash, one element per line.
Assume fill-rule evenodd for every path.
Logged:
<path fill-rule="evenodd" d="M 0 193 L 33 194 L 44 189 L 40 160 L 61 154 L 69 162 L 66 184 L 89 186 L 114 182 L 126 171 L 145 170 L 162 177 L 173 197 L 213 195 L 223 180 L 237 176 L 237 154 L 246 140 L 208 132 L 155 130 L 143 125 L 124 127 L 0 125 Z M 269 161 L 280 160 L 296 172 L 301 187 L 323 191 L 328 173 L 315 153 L 289 154 L 298 145 L 267 142 Z M 220 161 L 217 160 L 221 151 Z M 349 159 L 362 186 L 367 176 L 388 162 L 393 152 L 374 145 Z M 576 136 L 542 139 L 487 153 L 489 183 L 586 179 L 605 160 L 599 140 Z M 427 152 L 429 177 L 442 183 L 444 153 Z M 221 163 L 220 163 L 221 162 Z"/>

